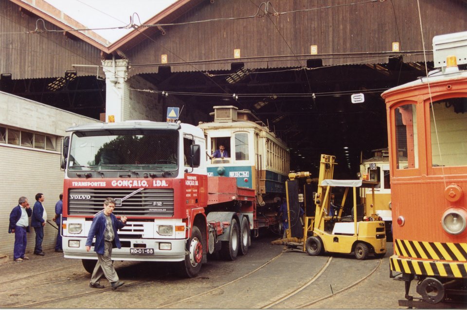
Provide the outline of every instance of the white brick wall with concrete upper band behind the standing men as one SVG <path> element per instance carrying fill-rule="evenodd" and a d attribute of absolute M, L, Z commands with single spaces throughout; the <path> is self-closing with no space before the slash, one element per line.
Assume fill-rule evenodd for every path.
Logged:
<path fill-rule="evenodd" d="M 99 121 L 56 109 L 35 101 L 0 92 L 0 126 L 16 127 L 35 133 L 65 136 L 65 130 L 73 124 L 98 123 Z M 60 170 L 60 149 L 57 151 L 38 150 L 22 146 L 0 143 L 0 257 L 13 257 L 15 235 L 8 234 L 10 212 L 18 205 L 20 196 L 26 196 L 31 207 L 36 202 L 36 193 L 43 193 L 43 205 L 48 219 L 55 213 L 55 203 L 63 191 L 64 172 Z M 45 252 L 54 251 L 56 230 L 45 226 L 42 248 Z M 28 234 L 26 253 L 32 255 L 36 234 L 31 228 Z M 47 255 L 47 253 L 46 253 Z"/>

